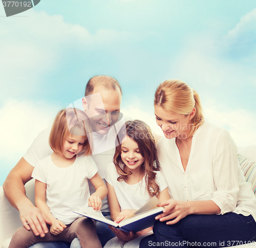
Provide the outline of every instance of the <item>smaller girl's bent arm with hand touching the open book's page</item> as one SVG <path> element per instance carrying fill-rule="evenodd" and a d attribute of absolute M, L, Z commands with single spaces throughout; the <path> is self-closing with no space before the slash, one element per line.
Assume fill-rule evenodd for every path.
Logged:
<path fill-rule="evenodd" d="M 98 172 L 90 179 L 90 181 L 95 188 L 95 192 L 89 197 L 88 204 L 97 211 L 100 210 L 101 200 L 103 200 L 106 194 L 108 194 L 108 189 Z"/>

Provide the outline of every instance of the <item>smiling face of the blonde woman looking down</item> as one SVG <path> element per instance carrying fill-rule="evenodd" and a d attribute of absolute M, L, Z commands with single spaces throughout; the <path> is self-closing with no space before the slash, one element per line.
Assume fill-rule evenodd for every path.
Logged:
<path fill-rule="evenodd" d="M 155 116 L 157 125 L 163 130 L 167 139 L 182 138 L 186 139 L 189 135 L 191 119 L 195 116 L 195 108 L 189 115 L 172 114 L 165 111 L 159 105 L 155 105 Z"/>

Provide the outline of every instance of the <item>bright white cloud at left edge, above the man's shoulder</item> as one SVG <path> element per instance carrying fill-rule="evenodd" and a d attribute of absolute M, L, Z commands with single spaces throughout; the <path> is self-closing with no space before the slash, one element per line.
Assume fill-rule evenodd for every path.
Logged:
<path fill-rule="evenodd" d="M 0 109 L 0 160 L 7 166 L 9 162 L 17 162 L 37 134 L 52 125 L 59 109 L 61 107 L 56 103 L 9 99 Z"/>

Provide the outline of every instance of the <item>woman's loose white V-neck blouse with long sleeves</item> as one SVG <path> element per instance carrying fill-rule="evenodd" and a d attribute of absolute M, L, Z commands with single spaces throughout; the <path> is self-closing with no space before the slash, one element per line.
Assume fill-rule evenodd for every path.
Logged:
<path fill-rule="evenodd" d="M 238 164 L 237 146 L 227 130 L 207 122 L 195 132 L 186 171 L 175 139 L 157 143 L 160 171 L 169 195 L 178 200 L 212 200 L 221 214 L 252 215 L 256 220 L 256 197 L 245 182 Z"/>

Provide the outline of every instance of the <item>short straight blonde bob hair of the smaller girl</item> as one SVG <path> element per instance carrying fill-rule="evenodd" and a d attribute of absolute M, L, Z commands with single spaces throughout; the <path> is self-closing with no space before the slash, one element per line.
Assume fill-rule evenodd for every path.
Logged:
<path fill-rule="evenodd" d="M 58 112 L 49 137 L 49 144 L 53 151 L 62 153 L 63 141 L 69 133 L 84 136 L 86 141 L 83 143 L 82 151 L 84 155 L 92 154 L 88 139 L 91 135 L 91 127 L 87 115 L 82 110 L 66 108 Z"/>

